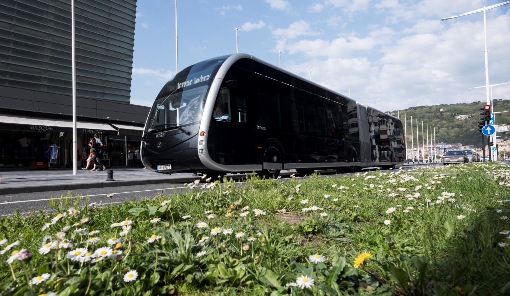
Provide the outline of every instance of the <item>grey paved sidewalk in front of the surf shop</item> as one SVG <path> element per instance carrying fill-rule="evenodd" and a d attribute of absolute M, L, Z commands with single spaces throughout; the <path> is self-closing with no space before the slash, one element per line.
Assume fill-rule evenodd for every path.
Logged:
<path fill-rule="evenodd" d="M 3 171 L 0 183 L 0 195 L 17 193 L 34 193 L 74 189 L 92 189 L 120 186 L 190 183 L 200 177 L 192 174 L 164 175 L 147 169 L 121 168 L 113 169 L 115 181 L 105 181 L 106 171 L 78 170 L 78 176 L 72 170 L 41 170 L 41 171 Z M 321 171 L 323 174 L 334 171 Z M 287 177 L 293 171 L 282 171 L 280 176 Z M 232 179 L 242 179 L 244 175 L 227 175 Z"/>

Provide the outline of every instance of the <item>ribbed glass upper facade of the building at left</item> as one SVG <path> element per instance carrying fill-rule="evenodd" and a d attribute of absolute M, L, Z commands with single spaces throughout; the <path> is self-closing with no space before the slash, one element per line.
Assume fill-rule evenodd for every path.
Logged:
<path fill-rule="evenodd" d="M 136 0 L 75 0 L 77 95 L 129 103 Z M 0 0 L 0 85 L 71 94 L 71 1 Z"/>

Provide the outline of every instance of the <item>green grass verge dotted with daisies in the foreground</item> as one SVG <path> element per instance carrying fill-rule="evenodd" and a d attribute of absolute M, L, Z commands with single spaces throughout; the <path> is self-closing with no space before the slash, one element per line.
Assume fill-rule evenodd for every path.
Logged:
<path fill-rule="evenodd" d="M 505 211 L 508 202 L 498 201 L 510 200 L 509 176 L 508 166 L 469 164 L 285 182 L 253 177 L 246 183 L 225 182 L 212 188 L 207 183 L 209 189 L 200 189 L 206 184 L 200 180 L 183 194 L 162 192 L 115 206 L 88 206 L 86 197 L 61 196 L 50 202 L 53 214 L 0 219 L 0 240 L 8 241 L 0 249 L 20 241 L 0 255 L 0 291 L 3 295 L 503 295 L 510 290 L 510 246 L 499 244 L 510 242 L 510 233 L 500 232 L 510 230 L 510 225 L 501 218 L 510 217 L 510 212 Z M 420 196 L 414 200 L 406 197 L 415 193 Z M 440 201 L 438 196 L 445 198 Z M 455 202 L 448 201 L 451 198 Z M 302 204 L 304 200 L 308 202 Z M 170 202 L 162 206 L 165 201 Z M 243 210 L 245 206 L 249 209 Z M 303 211 L 314 206 L 320 209 Z M 71 207 L 79 213 L 67 214 L 41 231 L 56 213 Z M 407 207 L 412 209 L 406 213 Z M 257 216 L 256 209 L 265 214 Z M 205 211 L 215 217 L 208 219 Z M 244 211 L 248 214 L 242 217 Z M 191 218 L 183 219 L 186 215 Z M 88 217 L 87 224 L 73 226 L 83 217 Z M 161 221 L 150 223 L 154 217 Z M 125 219 L 133 221 L 132 229 L 119 236 L 121 227 L 110 225 Z M 386 225 L 385 220 L 391 223 Z M 208 226 L 198 228 L 200 222 Z M 72 248 L 39 254 L 44 237 L 56 241 L 55 233 L 65 226 L 71 226 L 65 238 L 72 240 Z M 211 235 L 215 227 L 232 229 L 233 234 Z M 79 236 L 74 233 L 79 228 L 99 232 Z M 236 238 L 239 232 L 244 236 Z M 147 242 L 153 234 L 161 238 Z M 87 242 L 90 237 L 99 241 Z M 203 237 L 209 238 L 199 242 Z M 256 240 L 248 241 L 250 237 Z M 108 245 L 109 238 L 120 238 L 121 245 Z M 95 263 L 66 258 L 77 248 L 92 253 L 104 246 L 122 254 Z M 21 249 L 30 250 L 33 257 L 8 264 L 12 252 Z M 198 256 L 199 252 L 205 254 Z M 362 252 L 372 257 L 354 268 L 353 261 Z M 322 255 L 324 262 L 311 262 L 314 254 Z M 125 282 L 130 270 L 138 276 Z M 42 283 L 27 284 L 46 273 L 49 278 Z M 292 283 L 300 276 L 310 277 L 314 284 L 295 287 Z"/>

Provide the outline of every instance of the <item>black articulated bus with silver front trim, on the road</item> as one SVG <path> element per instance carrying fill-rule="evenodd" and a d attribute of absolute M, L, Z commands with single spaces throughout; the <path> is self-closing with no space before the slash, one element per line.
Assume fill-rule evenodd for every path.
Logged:
<path fill-rule="evenodd" d="M 402 121 L 247 54 L 177 73 L 145 124 L 142 161 L 163 174 L 384 169 L 404 162 Z M 213 175 L 215 176 L 215 175 Z"/>

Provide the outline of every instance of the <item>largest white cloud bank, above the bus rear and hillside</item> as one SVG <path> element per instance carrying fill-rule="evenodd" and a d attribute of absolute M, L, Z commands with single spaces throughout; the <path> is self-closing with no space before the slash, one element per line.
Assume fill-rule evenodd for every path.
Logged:
<path fill-rule="evenodd" d="M 352 98 L 363 102 L 366 92 L 367 104 L 375 106 L 379 98 L 383 110 L 386 104 L 396 110 L 483 101 L 484 89 L 469 90 L 485 82 L 483 22 L 461 19 L 449 27 L 436 20 L 414 23 L 402 34 L 379 28 L 364 37 L 288 43 L 289 54 L 297 56 L 299 63 L 288 62 L 286 69 L 308 79 L 312 66 L 315 82 L 344 94 L 350 84 Z M 505 49 L 510 45 L 510 11 L 489 18 L 487 30 L 490 83 L 510 81 Z M 509 90 L 510 86 L 494 88 L 494 98 L 507 99 Z"/>

